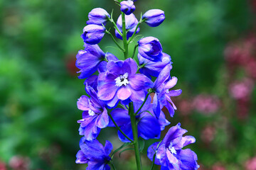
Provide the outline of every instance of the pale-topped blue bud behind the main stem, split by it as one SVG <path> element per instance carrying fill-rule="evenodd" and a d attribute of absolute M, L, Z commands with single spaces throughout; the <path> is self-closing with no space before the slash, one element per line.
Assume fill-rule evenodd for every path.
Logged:
<path fill-rule="evenodd" d="M 129 16 L 125 16 L 125 30 L 127 30 L 127 40 L 128 38 L 132 37 L 138 23 L 139 21 L 137 20 L 133 13 L 131 13 Z M 117 19 L 117 28 L 122 33 L 122 15 L 120 15 Z M 139 28 L 137 29 L 136 33 L 139 33 Z M 119 35 L 117 30 L 115 30 L 115 35 L 117 36 L 117 38 L 122 40 L 122 36 Z"/>

